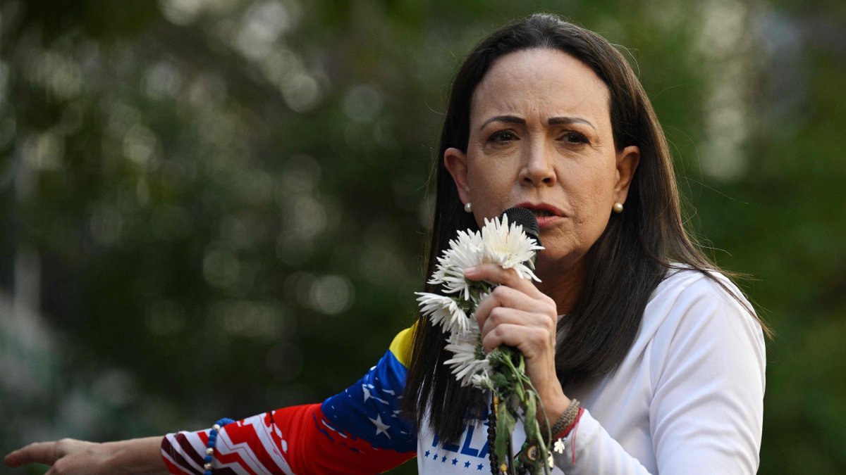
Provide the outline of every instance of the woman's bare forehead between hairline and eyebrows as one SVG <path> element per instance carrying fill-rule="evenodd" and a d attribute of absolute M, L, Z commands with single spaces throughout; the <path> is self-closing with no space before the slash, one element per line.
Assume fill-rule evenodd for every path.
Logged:
<path fill-rule="evenodd" d="M 473 92 L 470 121 L 499 114 L 578 116 L 610 127 L 608 88 L 591 68 L 557 49 L 497 58 Z"/>

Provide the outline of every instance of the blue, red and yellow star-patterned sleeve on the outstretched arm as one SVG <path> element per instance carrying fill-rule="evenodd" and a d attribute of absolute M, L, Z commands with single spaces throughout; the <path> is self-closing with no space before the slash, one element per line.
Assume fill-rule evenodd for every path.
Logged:
<path fill-rule="evenodd" d="M 215 474 L 378 473 L 416 455 L 415 426 L 400 414 L 411 329 L 379 363 L 321 404 L 285 407 L 229 423 L 217 434 Z M 168 434 L 162 457 L 179 475 L 205 472 L 210 429 Z"/>

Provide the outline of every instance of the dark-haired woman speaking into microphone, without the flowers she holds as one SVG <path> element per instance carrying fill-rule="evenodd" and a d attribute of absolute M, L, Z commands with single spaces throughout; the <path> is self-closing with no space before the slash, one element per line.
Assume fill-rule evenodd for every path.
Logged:
<path fill-rule="evenodd" d="M 495 265 L 466 276 L 501 284 L 475 314 L 486 350 L 518 347 L 549 420 L 576 414 L 556 470 L 754 473 L 761 323 L 684 232 L 666 140 L 624 57 L 551 15 L 494 32 L 453 81 L 428 274 L 457 230 L 513 206 L 537 216 L 541 282 Z M 200 473 L 216 445 L 221 472 L 381 472 L 415 455 L 421 473 L 489 471 L 485 395 L 453 379 L 444 344 L 421 322 L 343 393 L 213 436 L 63 440 L 6 461 Z"/>

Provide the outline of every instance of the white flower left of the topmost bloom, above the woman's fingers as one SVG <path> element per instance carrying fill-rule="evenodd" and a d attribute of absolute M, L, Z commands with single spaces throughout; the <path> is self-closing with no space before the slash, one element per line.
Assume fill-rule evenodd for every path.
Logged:
<path fill-rule="evenodd" d="M 470 300 L 470 285 L 464 278 L 464 269 L 482 262 L 481 233 L 459 231 L 458 238 L 449 242 L 449 248 L 437 258 L 437 267 L 430 284 L 443 284 L 447 293 L 460 293 Z"/>

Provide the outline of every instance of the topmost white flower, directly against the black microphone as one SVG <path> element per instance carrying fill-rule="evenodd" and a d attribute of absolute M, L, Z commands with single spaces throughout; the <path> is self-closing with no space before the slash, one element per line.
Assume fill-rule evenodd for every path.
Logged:
<path fill-rule="evenodd" d="M 503 269 L 514 269 L 523 279 L 541 281 L 531 270 L 534 265 L 530 259 L 536 251 L 541 250 L 533 238 L 529 238 L 518 224 L 508 226 L 508 216 L 502 221 L 494 218 L 485 220 L 481 229 L 482 259 L 500 265 Z M 528 261 L 528 265 L 526 262 Z"/>

